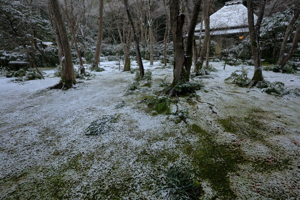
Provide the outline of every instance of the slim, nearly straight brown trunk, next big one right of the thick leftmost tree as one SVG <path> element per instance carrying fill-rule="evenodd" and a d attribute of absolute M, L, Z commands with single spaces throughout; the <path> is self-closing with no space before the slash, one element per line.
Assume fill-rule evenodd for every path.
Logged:
<path fill-rule="evenodd" d="M 103 34 L 103 0 L 99 1 L 99 20 L 98 20 L 98 38 L 97 46 L 95 50 L 95 62 L 94 66 L 98 67 L 99 56 L 101 54 L 101 43 L 102 43 L 102 34 Z"/>

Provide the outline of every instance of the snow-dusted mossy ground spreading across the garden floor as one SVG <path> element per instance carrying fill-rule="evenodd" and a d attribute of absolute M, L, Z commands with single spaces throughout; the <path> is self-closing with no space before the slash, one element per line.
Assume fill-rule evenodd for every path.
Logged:
<path fill-rule="evenodd" d="M 195 175 L 201 199 L 299 198 L 300 97 L 226 84 L 241 67 L 215 62 L 219 71 L 203 79 L 198 99 L 179 97 L 188 118 L 176 124 L 138 103 L 162 91 L 159 78 L 172 81 L 173 69 L 158 64 L 144 63 L 154 81 L 133 94 L 125 93 L 134 74 L 119 71 L 117 61 L 101 62 L 105 71 L 70 90 L 47 89 L 57 77 L 16 83 L 1 76 L 0 199 L 163 199 L 156 178 L 173 165 Z M 300 87 L 298 75 L 263 74 Z M 103 115 L 117 118 L 114 130 L 86 136 Z"/>

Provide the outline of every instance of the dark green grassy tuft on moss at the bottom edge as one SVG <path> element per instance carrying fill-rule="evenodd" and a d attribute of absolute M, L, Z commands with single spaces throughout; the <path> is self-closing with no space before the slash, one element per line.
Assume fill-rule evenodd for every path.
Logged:
<path fill-rule="evenodd" d="M 186 169 L 172 166 L 159 179 L 164 199 L 196 199 L 195 180 Z"/>

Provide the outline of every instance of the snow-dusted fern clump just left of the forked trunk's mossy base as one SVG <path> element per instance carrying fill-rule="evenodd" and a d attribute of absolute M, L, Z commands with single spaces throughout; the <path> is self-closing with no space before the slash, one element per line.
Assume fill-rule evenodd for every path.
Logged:
<path fill-rule="evenodd" d="M 241 70 L 235 70 L 234 72 L 231 73 L 231 75 L 228 78 L 224 80 L 224 82 L 231 81 L 231 83 L 235 85 L 239 85 L 241 87 L 250 85 L 252 81 L 247 77 L 249 70 L 250 68 L 245 69 L 244 67 L 242 67 Z"/>

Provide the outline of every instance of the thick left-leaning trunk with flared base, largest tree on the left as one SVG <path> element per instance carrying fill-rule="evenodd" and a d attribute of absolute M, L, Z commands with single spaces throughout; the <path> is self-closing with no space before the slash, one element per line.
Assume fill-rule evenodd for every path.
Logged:
<path fill-rule="evenodd" d="M 71 49 L 69 46 L 66 27 L 64 25 L 64 22 L 62 21 L 58 0 L 49 0 L 49 1 L 51 5 L 51 11 L 55 18 L 55 22 L 59 31 L 62 50 L 64 52 L 64 57 L 62 57 L 62 62 L 64 64 L 61 69 L 61 81 L 53 88 L 71 88 L 72 85 L 76 84 L 76 80 L 75 80 Z"/>

